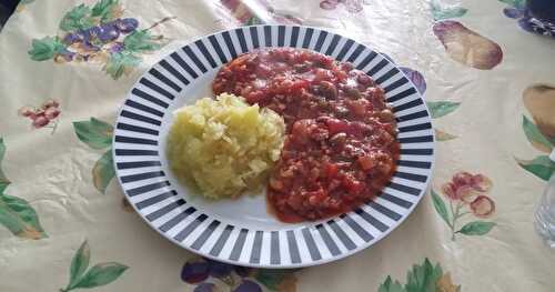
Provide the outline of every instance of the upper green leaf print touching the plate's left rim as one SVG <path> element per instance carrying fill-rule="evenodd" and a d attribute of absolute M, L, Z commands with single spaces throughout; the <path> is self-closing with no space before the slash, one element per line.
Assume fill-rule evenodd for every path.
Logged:
<path fill-rule="evenodd" d="M 105 149 L 112 144 L 113 127 L 101 120 L 91 118 L 90 121 L 73 122 L 75 134 L 82 142 L 92 149 Z"/>

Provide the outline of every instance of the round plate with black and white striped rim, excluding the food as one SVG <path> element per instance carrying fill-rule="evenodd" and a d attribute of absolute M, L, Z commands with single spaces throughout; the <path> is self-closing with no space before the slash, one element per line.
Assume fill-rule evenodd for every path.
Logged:
<path fill-rule="evenodd" d="M 206 202 L 178 183 L 165 159 L 173 110 L 212 95 L 220 67 L 261 47 L 305 48 L 352 62 L 385 89 L 398 121 L 402 151 L 397 172 L 373 202 L 331 220 L 285 224 L 268 214 L 264 195 Z M 380 53 L 316 28 L 255 26 L 201 38 L 145 72 L 118 117 L 113 160 L 131 204 L 174 243 L 239 265 L 306 266 L 374 244 L 413 211 L 430 181 L 434 132 L 415 87 Z"/>

